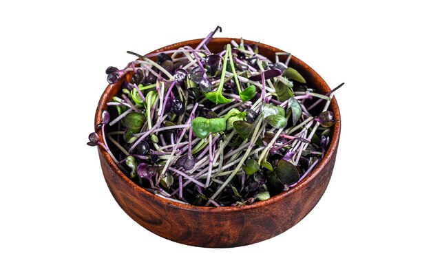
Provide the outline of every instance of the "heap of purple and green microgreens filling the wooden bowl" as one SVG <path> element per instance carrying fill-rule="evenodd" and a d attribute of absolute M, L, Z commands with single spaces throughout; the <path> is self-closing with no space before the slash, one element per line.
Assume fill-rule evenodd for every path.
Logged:
<path fill-rule="evenodd" d="M 172 202 L 267 200 L 306 178 L 331 139 L 328 107 L 342 84 L 315 91 L 289 66 L 291 54 L 277 53 L 273 62 L 242 39 L 211 52 L 218 31 L 195 48 L 127 51 L 138 60 L 106 70 L 108 83 L 120 88 L 87 145 L 107 151 L 132 181 Z"/>

